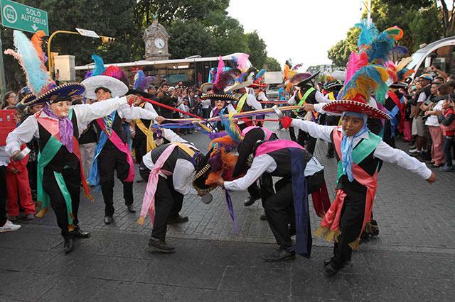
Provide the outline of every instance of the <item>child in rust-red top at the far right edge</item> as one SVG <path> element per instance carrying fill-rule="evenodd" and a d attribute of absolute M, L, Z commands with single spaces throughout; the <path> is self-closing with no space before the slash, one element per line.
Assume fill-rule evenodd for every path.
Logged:
<path fill-rule="evenodd" d="M 444 135 L 444 157 L 446 160 L 446 164 L 441 168 L 441 171 L 451 172 L 454 171 L 451 147 L 455 135 L 455 111 L 454 102 L 451 99 L 444 101 L 444 104 L 442 104 L 442 114 L 439 115 L 439 121 L 441 122 L 442 134 Z"/>

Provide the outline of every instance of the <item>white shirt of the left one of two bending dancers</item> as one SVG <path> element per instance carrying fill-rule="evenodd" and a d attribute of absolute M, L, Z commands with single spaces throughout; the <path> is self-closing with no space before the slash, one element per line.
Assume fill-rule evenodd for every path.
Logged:
<path fill-rule="evenodd" d="M 161 129 L 163 131 L 163 136 L 168 140 L 169 142 L 184 142 L 187 144 L 190 144 L 190 142 L 187 142 L 186 140 L 183 140 L 180 136 L 178 136 L 173 130 L 169 129 Z M 152 169 L 154 167 L 154 162 L 151 160 L 151 153 L 147 153 L 142 157 L 142 162 L 144 162 L 145 166 L 149 169 Z M 177 171 L 178 167 L 178 171 Z M 196 190 L 193 188 L 191 185 L 193 181 L 193 174 L 195 172 L 193 163 L 188 161 L 188 160 L 183 160 L 182 158 L 179 158 L 176 160 L 176 173 L 173 173 L 172 175 L 172 184 L 174 189 L 178 191 L 179 193 L 183 195 L 188 195 L 188 194 L 193 194 L 196 195 L 198 194 Z M 163 177 L 165 177 L 163 175 Z"/>

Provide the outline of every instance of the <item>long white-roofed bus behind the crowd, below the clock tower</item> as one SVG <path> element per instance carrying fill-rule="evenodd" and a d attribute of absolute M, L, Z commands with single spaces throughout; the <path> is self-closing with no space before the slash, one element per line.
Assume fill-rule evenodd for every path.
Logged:
<path fill-rule="evenodd" d="M 232 61 L 232 58 L 237 57 L 238 55 L 241 55 L 241 53 L 236 52 L 223 56 L 226 69 L 235 67 L 235 62 Z M 134 74 L 136 74 L 139 69 L 142 69 L 146 75 L 155 77 L 155 80 L 152 83 L 155 85 L 159 85 L 161 80 L 166 79 L 171 85 L 175 85 L 181 81 L 185 86 L 200 86 L 204 82 L 208 82 L 210 72 L 218 67 L 219 59 L 219 57 L 200 57 L 199 55 L 195 55 L 176 60 L 141 60 L 136 62 L 105 64 L 105 67 L 115 65 L 122 68 L 129 79 L 129 84 L 134 83 Z M 251 67 L 251 62 L 247 60 L 246 65 Z M 85 74 L 93 68 L 94 63 L 75 67 L 76 80 L 82 81 Z"/>

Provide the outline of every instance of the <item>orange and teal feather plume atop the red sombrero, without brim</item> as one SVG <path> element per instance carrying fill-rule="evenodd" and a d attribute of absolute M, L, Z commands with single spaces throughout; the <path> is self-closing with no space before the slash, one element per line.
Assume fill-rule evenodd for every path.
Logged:
<path fill-rule="evenodd" d="M 383 104 L 388 86 L 389 74 L 382 65 L 368 65 L 358 69 L 353 77 L 343 86 L 338 99 L 353 100 L 360 94 L 368 102 L 372 94 L 376 94 L 376 101 Z"/>

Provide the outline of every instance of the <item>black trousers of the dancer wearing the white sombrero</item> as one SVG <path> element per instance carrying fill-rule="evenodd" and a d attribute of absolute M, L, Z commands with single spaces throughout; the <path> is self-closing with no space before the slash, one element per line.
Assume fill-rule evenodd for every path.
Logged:
<path fill-rule="evenodd" d="M 105 216 L 113 216 L 115 171 L 117 171 L 117 178 L 120 179 L 123 184 L 123 198 L 125 204 L 132 205 L 134 203 L 133 182 L 124 181 L 129 173 L 127 155 L 107 142 L 98 156 L 98 166 L 100 167 L 102 197 L 105 201 Z"/>

